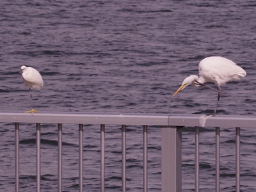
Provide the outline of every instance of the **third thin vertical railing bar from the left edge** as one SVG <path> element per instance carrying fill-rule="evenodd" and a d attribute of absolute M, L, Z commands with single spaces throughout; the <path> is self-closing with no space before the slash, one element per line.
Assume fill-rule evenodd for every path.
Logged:
<path fill-rule="evenodd" d="M 58 124 L 58 192 L 62 191 L 62 124 Z"/>

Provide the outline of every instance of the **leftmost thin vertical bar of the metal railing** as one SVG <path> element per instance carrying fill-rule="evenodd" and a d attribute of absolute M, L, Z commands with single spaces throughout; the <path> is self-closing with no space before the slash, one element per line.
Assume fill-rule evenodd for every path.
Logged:
<path fill-rule="evenodd" d="M 19 123 L 15 123 L 15 192 L 19 192 L 20 185 L 20 139 Z"/>

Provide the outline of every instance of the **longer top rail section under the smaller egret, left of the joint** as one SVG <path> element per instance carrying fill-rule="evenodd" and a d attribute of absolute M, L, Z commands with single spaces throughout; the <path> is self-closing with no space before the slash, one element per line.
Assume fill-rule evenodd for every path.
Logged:
<path fill-rule="evenodd" d="M 47 124 L 168 125 L 164 114 L 0 112 L 0 122 Z"/>

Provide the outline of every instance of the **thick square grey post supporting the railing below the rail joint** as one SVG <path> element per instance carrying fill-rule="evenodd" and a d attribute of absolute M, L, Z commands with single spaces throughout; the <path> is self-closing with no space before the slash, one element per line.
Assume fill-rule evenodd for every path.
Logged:
<path fill-rule="evenodd" d="M 162 192 L 181 192 L 181 128 L 162 128 Z"/>

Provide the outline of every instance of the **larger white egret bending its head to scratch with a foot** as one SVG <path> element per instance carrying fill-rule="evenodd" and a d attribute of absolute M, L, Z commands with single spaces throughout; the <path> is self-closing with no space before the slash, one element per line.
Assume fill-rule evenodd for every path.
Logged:
<path fill-rule="evenodd" d="M 199 77 L 192 75 L 184 79 L 180 88 L 173 94 L 173 97 L 181 90 L 186 88 L 189 84 L 192 86 L 202 86 L 210 88 L 218 92 L 218 99 L 212 116 L 216 115 L 217 106 L 220 100 L 221 88 L 220 86 L 227 83 L 228 81 L 240 80 L 246 76 L 246 71 L 243 68 L 236 65 L 231 60 L 220 56 L 211 56 L 204 58 L 199 63 Z M 205 86 L 205 83 L 215 83 L 216 89 L 209 86 Z"/>

